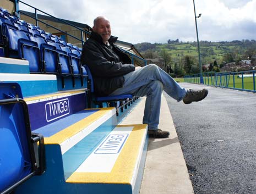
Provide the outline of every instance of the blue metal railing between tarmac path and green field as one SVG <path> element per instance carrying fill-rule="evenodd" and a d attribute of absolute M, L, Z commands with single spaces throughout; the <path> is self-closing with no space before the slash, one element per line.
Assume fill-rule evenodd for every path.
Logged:
<path fill-rule="evenodd" d="M 216 73 L 203 73 L 204 84 L 208 86 L 231 88 L 234 90 L 256 92 L 256 70 Z M 200 84 L 200 74 L 186 75 L 184 81 Z"/>

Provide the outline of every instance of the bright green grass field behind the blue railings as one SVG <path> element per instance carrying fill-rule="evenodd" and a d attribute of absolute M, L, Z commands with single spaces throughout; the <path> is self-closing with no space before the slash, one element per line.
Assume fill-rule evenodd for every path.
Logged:
<path fill-rule="evenodd" d="M 221 78 L 221 82 L 220 82 Z M 234 86 L 234 80 L 235 79 L 235 86 Z M 183 78 L 175 79 L 179 82 L 184 82 Z M 197 81 L 199 81 L 199 78 L 197 78 Z M 228 85 L 227 85 L 228 83 Z M 228 75 L 228 76 L 218 76 L 217 80 L 215 77 L 204 77 L 204 84 L 205 85 L 214 85 L 214 86 L 222 86 L 222 87 L 232 87 L 232 88 L 243 88 L 246 90 L 254 90 L 253 88 L 253 77 L 244 77 L 243 78 L 243 87 L 242 87 L 242 78 L 237 77 L 237 75 Z"/>

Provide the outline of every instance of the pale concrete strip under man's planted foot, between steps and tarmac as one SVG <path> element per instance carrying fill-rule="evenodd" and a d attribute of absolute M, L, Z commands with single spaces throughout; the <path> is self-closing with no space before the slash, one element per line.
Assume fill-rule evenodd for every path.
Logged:
<path fill-rule="evenodd" d="M 121 124 L 141 124 L 145 97 L 131 110 Z M 168 104 L 162 96 L 159 128 L 170 131 L 170 137 L 149 139 L 148 155 L 140 194 L 192 194 L 193 187 Z"/>

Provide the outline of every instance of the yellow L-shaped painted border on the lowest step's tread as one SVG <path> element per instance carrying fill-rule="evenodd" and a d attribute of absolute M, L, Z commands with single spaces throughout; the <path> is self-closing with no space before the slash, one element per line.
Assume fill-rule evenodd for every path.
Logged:
<path fill-rule="evenodd" d="M 69 183 L 105 183 L 131 184 L 134 169 L 137 168 L 137 159 L 144 146 L 147 125 L 118 125 L 118 127 L 133 126 L 115 165 L 108 173 L 88 173 L 75 171 L 66 182 Z M 141 147 L 142 146 L 142 147 Z M 141 153 L 140 153 L 141 154 Z M 101 161 L 104 163 L 104 161 Z"/>

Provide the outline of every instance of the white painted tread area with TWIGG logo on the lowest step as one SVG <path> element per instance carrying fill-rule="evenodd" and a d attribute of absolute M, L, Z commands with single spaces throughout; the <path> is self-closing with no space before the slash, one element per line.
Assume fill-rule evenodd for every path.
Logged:
<path fill-rule="evenodd" d="M 75 172 L 110 173 L 132 130 L 133 126 L 113 129 Z"/>

